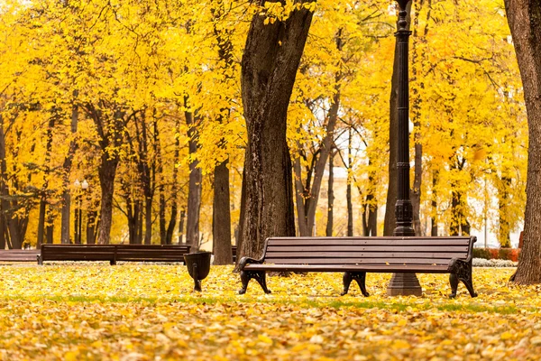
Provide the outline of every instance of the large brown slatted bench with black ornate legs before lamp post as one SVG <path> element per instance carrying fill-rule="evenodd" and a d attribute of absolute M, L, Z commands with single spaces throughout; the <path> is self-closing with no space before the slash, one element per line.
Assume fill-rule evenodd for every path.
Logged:
<path fill-rule="evenodd" d="M 263 255 L 243 257 L 239 263 L 243 288 L 253 278 L 263 292 L 266 272 L 344 273 L 344 292 L 354 280 L 367 297 L 366 273 L 450 273 L 451 297 L 462 281 L 476 297 L 472 284 L 472 248 L 476 237 L 272 237 Z"/>

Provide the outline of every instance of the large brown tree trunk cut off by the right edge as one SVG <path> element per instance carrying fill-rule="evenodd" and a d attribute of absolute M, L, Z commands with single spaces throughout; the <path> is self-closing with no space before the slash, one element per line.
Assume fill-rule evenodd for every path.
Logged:
<path fill-rule="evenodd" d="M 541 282 L 541 2 L 505 0 L 524 87 L 529 132 L 524 244 L 514 281 Z"/>

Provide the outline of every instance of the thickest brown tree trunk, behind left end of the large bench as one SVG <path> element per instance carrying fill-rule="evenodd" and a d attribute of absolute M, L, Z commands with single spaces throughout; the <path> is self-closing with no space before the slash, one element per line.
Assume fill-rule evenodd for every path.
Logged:
<path fill-rule="evenodd" d="M 262 0 L 258 3 L 263 5 Z M 312 13 L 301 8 L 284 22 L 265 25 L 264 21 L 264 15 L 253 16 L 242 61 L 248 144 L 243 174 L 243 241 L 237 257 L 260 257 L 268 236 L 295 236 L 286 129 L 289 98 Z"/>

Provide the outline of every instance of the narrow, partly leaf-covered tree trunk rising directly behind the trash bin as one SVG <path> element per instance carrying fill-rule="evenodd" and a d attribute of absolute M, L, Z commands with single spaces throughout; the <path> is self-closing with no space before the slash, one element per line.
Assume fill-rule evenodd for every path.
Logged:
<path fill-rule="evenodd" d="M 188 108 L 188 97 L 184 98 L 184 106 Z M 197 126 L 199 121 L 192 112 L 185 112 L 186 124 L 188 125 L 188 149 L 190 156 L 195 156 L 199 148 L 199 133 Z M 203 173 L 197 165 L 199 161 L 189 163 L 188 185 L 188 220 L 186 225 L 186 242 L 191 245 L 190 252 L 199 250 L 199 212 L 201 210 L 201 191 L 203 188 Z"/>

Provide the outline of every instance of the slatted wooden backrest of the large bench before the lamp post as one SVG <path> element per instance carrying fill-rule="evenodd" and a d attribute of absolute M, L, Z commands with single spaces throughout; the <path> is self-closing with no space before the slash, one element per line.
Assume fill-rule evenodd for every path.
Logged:
<path fill-rule="evenodd" d="M 449 264 L 469 260 L 476 237 L 271 237 L 267 264 Z"/>

